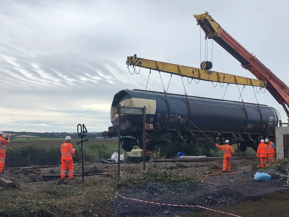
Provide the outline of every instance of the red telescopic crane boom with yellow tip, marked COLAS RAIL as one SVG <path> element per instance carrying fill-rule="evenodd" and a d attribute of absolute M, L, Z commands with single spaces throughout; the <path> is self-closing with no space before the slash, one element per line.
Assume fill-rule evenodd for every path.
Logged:
<path fill-rule="evenodd" d="M 230 36 L 208 12 L 194 15 L 198 25 L 206 33 L 206 38 L 213 39 L 222 48 L 235 57 L 241 66 L 249 70 L 257 79 L 267 82 L 267 90 L 282 105 L 289 118 L 289 88 L 275 74 L 266 68 L 253 54 Z M 288 119 L 289 120 L 289 119 Z"/>

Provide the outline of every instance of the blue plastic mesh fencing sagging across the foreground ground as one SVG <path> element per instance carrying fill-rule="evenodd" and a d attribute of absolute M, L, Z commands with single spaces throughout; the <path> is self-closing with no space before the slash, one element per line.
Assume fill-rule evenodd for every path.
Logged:
<path fill-rule="evenodd" d="M 260 174 L 258 174 L 260 172 Z M 271 178 L 267 177 L 268 175 Z M 254 178 L 256 181 L 254 180 Z M 266 179 L 269 179 L 267 181 Z M 218 209 L 260 197 L 279 190 L 288 190 L 289 170 L 269 169 L 211 176 L 197 182 L 177 184 L 144 184 L 136 187 L 124 187 L 118 193 L 133 198 L 156 203 L 174 205 L 198 205 Z M 116 217 L 166 216 L 192 212 L 203 209 L 196 207 L 177 207 L 156 205 L 129 200 L 117 196 L 112 201 Z M 236 213 L 237 214 L 237 213 Z"/>

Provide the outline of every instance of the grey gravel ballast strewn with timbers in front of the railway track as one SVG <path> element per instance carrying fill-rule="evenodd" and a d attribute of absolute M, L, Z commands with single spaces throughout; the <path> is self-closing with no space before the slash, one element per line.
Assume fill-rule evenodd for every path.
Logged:
<path fill-rule="evenodd" d="M 206 162 L 147 162 L 146 168 L 149 170 L 174 170 L 179 174 L 186 176 L 197 176 L 204 175 L 205 172 L 210 173 L 219 173 L 222 171 L 222 160 L 210 161 L 216 165 L 220 166 L 220 169 L 212 169 L 207 166 L 208 161 Z M 235 165 L 232 165 L 232 172 L 236 171 L 251 171 L 252 165 L 258 165 L 259 159 L 241 159 L 236 160 Z M 120 164 L 120 169 L 125 173 L 124 175 L 129 174 L 138 174 L 142 170 L 143 164 L 133 164 L 133 163 L 122 163 Z M 41 169 L 43 174 L 60 174 L 60 167 L 55 168 L 43 168 Z M 92 164 L 85 165 L 85 173 L 101 173 L 101 172 L 116 172 L 117 164 Z M 68 174 L 68 172 L 66 172 Z M 76 165 L 74 168 L 74 174 L 81 174 L 82 166 Z M 41 182 L 41 175 L 32 172 L 24 172 L 23 174 L 13 174 L 12 172 L 3 172 L 0 174 L 0 178 L 7 178 L 11 181 L 21 183 L 31 183 L 31 182 Z M 93 176 L 93 178 L 99 179 L 98 176 Z"/>

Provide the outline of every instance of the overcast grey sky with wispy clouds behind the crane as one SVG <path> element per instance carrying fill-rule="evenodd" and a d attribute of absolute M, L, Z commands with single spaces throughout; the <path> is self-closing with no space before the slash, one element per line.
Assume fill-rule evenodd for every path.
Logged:
<path fill-rule="evenodd" d="M 0 1 L 0 130 L 74 132 L 78 123 L 88 131 L 107 130 L 114 94 L 146 86 L 140 75 L 129 74 L 126 56 L 199 67 L 200 28 L 193 14 L 205 11 L 289 84 L 288 6 L 287 1 L 261 0 Z M 203 61 L 203 31 L 201 45 Z M 214 42 L 212 70 L 255 78 Z M 147 78 L 148 72 L 140 74 Z M 166 86 L 169 74 L 162 78 Z M 149 81 L 148 90 L 163 90 L 158 72 Z M 184 81 L 188 95 L 223 98 L 226 85 Z M 168 92 L 184 94 L 180 77 L 172 77 Z M 242 97 L 256 103 L 252 87 Z M 257 95 L 285 122 L 271 97 Z M 224 99 L 238 98 L 238 88 L 229 85 Z"/>

